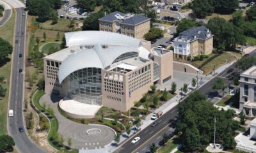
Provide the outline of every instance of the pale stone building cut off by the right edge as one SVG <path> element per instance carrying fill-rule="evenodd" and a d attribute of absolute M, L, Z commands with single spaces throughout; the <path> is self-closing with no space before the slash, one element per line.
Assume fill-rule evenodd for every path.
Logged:
<path fill-rule="evenodd" d="M 252 66 L 240 75 L 240 105 L 244 114 L 256 115 L 256 66 Z"/>

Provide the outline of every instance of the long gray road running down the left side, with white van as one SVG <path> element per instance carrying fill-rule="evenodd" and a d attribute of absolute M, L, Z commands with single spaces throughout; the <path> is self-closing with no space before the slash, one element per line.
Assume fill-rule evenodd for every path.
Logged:
<path fill-rule="evenodd" d="M 24 69 L 24 50 L 26 39 L 26 16 L 22 16 L 24 8 L 17 8 L 17 17 L 15 22 L 15 43 L 13 46 L 12 59 L 12 78 L 10 89 L 10 109 L 14 111 L 13 117 L 8 119 L 8 132 L 15 141 L 15 147 L 19 153 L 45 153 L 44 150 L 37 147 L 37 145 L 29 139 L 26 132 L 20 133 L 19 127 L 24 128 L 23 122 L 23 108 L 24 101 L 24 73 L 19 73 L 19 69 Z M 22 57 L 19 57 L 22 54 Z M 24 71 L 24 70 L 23 70 Z"/>

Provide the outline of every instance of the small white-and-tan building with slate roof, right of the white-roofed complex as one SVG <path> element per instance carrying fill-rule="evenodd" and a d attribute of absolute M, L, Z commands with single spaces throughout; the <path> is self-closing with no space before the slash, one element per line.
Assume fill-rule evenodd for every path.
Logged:
<path fill-rule="evenodd" d="M 207 27 L 191 27 L 174 39 L 173 57 L 184 59 L 209 55 L 213 49 L 213 34 Z"/>

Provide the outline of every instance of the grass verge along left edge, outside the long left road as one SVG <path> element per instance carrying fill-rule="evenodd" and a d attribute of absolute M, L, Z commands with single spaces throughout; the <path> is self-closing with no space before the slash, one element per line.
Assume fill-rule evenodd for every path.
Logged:
<path fill-rule="evenodd" d="M 10 20 L 0 28 L 0 37 L 8 41 L 13 45 L 13 34 L 15 25 L 15 10 L 13 10 Z M 12 55 L 9 55 L 12 60 Z M 3 76 L 7 81 L 3 83 L 4 88 L 7 89 L 6 96 L 0 99 L 0 135 L 6 134 L 6 117 L 8 112 L 8 102 L 9 102 L 9 87 L 10 87 L 10 73 L 11 73 L 12 63 L 6 62 L 4 66 L 0 68 L 0 76 Z"/>

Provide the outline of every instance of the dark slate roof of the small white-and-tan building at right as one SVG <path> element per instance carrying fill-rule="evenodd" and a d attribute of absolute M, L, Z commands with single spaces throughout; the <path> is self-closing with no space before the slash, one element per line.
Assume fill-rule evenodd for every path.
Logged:
<path fill-rule="evenodd" d="M 190 29 L 180 33 L 178 38 L 181 39 L 182 37 L 185 37 L 184 40 L 190 40 L 190 41 L 193 41 L 193 40 L 196 40 L 196 39 L 205 40 L 205 39 L 210 38 L 211 36 L 213 36 L 212 34 L 210 36 L 207 36 L 207 31 L 208 30 L 209 29 L 205 26 L 191 27 Z"/>

